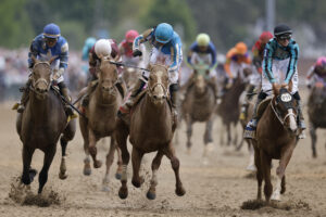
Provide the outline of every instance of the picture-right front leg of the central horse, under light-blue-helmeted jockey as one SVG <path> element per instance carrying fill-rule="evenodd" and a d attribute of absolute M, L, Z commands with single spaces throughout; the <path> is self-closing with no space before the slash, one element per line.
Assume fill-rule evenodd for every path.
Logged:
<path fill-rule="evenodd" d="M 183 182 L 181 182 L 180 177 L 179 177 L 180 162 L 175 155 L 175 150 L 172 146 L 172 142 L 170 142 L 168 146 L 166 149 L 164 149 L 164 154 L 166 155 L 167 158 L 170 158 L 172 168 L 173 168 L 174 174 L 175 174 L 175 179 L 176 179 L 175 193 L 178 196 L 183 196 L 183 195 L 185 195 L 186 190 L 184 189 Z"/>

